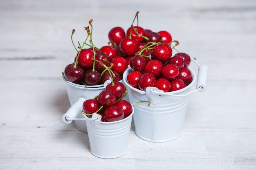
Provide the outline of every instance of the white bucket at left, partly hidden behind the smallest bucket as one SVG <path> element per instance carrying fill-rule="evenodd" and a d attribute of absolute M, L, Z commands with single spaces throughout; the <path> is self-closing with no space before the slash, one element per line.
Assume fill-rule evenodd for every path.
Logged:
<path fill-rule="evenodd" d="M 104 84 L 101 85 L 95 85 L 95 86 L 87 86 L 88 88 L 85 88 L 85 85 L 79 85 L 72 82 L 67 81 L 65 79 L 64 75 L 62 74 L 62 78 L 65 82 L 66 89 L 67 89 L 67 95 L 68 99 L 70 101 L 70 106 L 72 106 L 80 97 L 83 97 L 85 100 L 92 99 L 96 95 L 99 95 L 101 91 L 105 90 L 106 86 L 111 82 L 106 81 Z M 79 113 L 76 118 L 83 118 L 83 114 Z M 86 126 L 85 126 L 85 120 L 84 121 L 74 121 L 74 124 L 77 129 L 81 130 L 82 132 L 87 132 Z"/>

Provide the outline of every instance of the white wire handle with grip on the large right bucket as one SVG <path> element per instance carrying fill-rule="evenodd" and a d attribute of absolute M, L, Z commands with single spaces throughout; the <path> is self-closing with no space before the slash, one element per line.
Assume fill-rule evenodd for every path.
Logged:
<path fill-rule="evenodd" d="M 190 91 L 189 93 L 185 94 L 185 95 L 175 95 L 175 94 L 171 94 L 171 93 L 164 93 L 164 95 L 171 95 L 171 96 L 177 96 L 177 97 L 185 97 L 190 95 L 191 93 L 195 93 L 195 92 L 202 92 L 205 91 L 207 89 L 207 73 L 208 73 L 208 67 L 204 64 L 199 64 L 195 59 L 191 58 L 191 60 L 193 62 L 195 62 L 195 64 L 198 65 L 198 76 L 197 76 L 197 83 L 196 83 L 196 90 L 194 91 Z M 160 91 L 156 91 L 155 89 L 151 89 L 150 92 L 152 93 L 159 93 Z"/>

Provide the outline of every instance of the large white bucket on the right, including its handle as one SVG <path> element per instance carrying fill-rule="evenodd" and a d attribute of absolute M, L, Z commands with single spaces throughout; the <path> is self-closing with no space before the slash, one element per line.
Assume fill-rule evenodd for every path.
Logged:
<path fill-rule="evenodd" d="M 198 64 L 195 60 L 193 61 Z M 191 91 L 196 80 L 195 72 L 191 70 L 193 75 L 191 84 L 178 91 L 167 93 L 159 91 L 156 87 L 148 87 L 146 91 L 133 88 L 126 80 L 127 75 L 133 70 L 130 67 L 127 68 L 123 80 L 128 89 L 130 103 L 151 102 L 150 106 L 145 102 L 133 105 L 133 121 L 138 137 L 150 142 L 166 142 L 182 135 L 189 95 L 193 92 L 204 91 L 207 87 L 208 67 L 200 64 L 198 66 L 197 90 Z"/>

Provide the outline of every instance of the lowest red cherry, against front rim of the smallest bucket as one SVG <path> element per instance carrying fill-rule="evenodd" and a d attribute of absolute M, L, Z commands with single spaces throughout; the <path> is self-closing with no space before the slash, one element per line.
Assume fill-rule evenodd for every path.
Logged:
<path fill-rule="evenodd" d="M 124 119 L 124 111 L 118 106 L 106 108 L 103 114 L 104 121 L 118 121 Z"/>

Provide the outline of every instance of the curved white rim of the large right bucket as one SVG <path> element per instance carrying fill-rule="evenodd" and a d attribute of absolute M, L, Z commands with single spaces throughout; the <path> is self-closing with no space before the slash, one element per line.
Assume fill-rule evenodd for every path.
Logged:
<path fill-rule="evenodd" d="M 182 88 L 182 89 L 180 89 L 180 90 L 177 90 L 177 91 L 163 92 L 163 91 L 161 91 L 161 90 L 158 90 L 157 93 L 162 94 L 162 95 L 168 95 L 168 94 L 169 94 L 169 95 L 176 95 L 176 94 L 178 94 L 178 93 L 182 93 L 182 92 L 188 90 L 189 88 L 191 88 L 191 86 L 195 83 L 196 75 L 195 75 L 195 72 L 193 71 L 193 69 L 189 68 L 189 70 L 191 71 L 191 73 L 192 73 L 192 75 L 193 75 L 193 80 L 192 80 L 192 82 L 191 82 L 189 85 L 187 85 L 186 87 L 184 87 L 184 88 Z M 128 72 L 129 72 L 129 71 L 133 71 L 133 69 L 132 69 L 130 66 L 128 66 L 128 68 L 126 69 L 126 71 L 124 71 L 124 74 L 123 74 L 124 83 L 125 83 L 129 88 L 131 88 L 132 90 L 134 90 L 134 91 L 136 91 L 136 92 L 138 92 L 138 93 L 141 93 L 141 94 L 145 95 L 145 94 L 146 94 L 146 91 L 139 90 L 139 89 L 137 89 L 137 88 L 132 87 L 130 84 L 128 84 L 128 82 L 127 82 L 127 75 L 128 75 Z M 157 88 L 157 87 L 152 87 L 152 88 Z"/>

